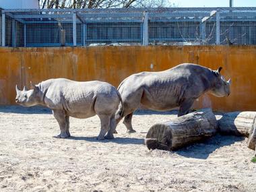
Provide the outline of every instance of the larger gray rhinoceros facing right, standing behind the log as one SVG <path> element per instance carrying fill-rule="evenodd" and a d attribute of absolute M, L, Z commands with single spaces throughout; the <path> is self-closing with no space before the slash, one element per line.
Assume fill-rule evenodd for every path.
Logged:
<path fill-rule="evenodd" d="M 117 123 L 125 117 L 123 123 L 127 132 L 132 133 L 135 130 L 131 119 L 140 105 L 151 110 L 170 110 L 179 106 L 178 116 L 181 116 L 187 114 L 195 99 L 205 92 L 218 97 L 228 96 L 230 80 L 226 82 L 222 78 L 221 69 L 214 71 L 184 63 L 166 71 L 142 72 L 127 77 L 118 88 L 124 110 L 123 106 L 119 107 Z"/>

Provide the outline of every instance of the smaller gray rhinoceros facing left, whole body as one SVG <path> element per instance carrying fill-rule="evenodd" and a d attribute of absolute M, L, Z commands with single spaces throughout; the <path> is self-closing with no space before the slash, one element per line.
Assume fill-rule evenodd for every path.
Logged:
<path fill-rule="evenodd" d="M 70 137 L 69 117 L 85 119 L 98 115 L 101 129 L 97 139 L 113 139 L 116 128 L 115 113 L 121 102 L 117 89 L 105 82 L 74 82 L 69 79 L 48 79 L 32 90 L 18 90 L 15 101 L 22 106 L 40 104 L 53 110 L 61 133 Z M 122 104 L 121 104 L 122 105 Z M 108 133 L 107 133 L 108 132 Z M 106 134 L 107 133 L 107 134 Z"/>

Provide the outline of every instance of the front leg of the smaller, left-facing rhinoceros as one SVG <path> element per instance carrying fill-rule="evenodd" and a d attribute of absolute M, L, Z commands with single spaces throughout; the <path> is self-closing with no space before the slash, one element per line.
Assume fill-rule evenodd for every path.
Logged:
<path fill-rule="evenodd" d="M 61 133 L 57 135 L 58 138 L 67 138 L 69 135 L 67 134 L 67 120 L 65 116 L 65 112 L 63 110 L 53 110 L 53 116 L 59 123 L 59 129 L 61 129 Z M 68 120 L 69 122 L 69 120 Z M 69 124 L 69 123 L 68 123 Z M 68 125 L 69 127 L 69 125 Z M 69 133 L 69 131 L 68 131 Z"/>

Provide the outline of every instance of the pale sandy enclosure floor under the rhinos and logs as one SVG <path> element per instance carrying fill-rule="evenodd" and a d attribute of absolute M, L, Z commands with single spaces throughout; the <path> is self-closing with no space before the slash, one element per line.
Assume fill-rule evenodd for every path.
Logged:
<path fill-rule="evenodd" d="M 176 117 L 141 110 L 137 133 L 121 123 L 97 141 L 98 117 L 70 120 L 70 139 L 46 108 L 0 107 L 0 191 L 256 191 L 253 150 L 243 137 L 216 135 L 177 152 L 143 144 L 154 123 Z"/>

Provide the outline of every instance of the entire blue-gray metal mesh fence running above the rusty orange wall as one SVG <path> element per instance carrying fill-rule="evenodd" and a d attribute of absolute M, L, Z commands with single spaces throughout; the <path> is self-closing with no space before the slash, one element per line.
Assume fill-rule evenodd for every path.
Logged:
<path fill-rule="evenodd" d="M 2 46 L 256 44 L 256 8 L 5 9 Z"/>

